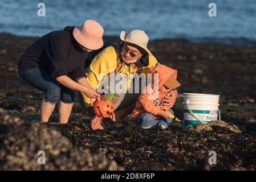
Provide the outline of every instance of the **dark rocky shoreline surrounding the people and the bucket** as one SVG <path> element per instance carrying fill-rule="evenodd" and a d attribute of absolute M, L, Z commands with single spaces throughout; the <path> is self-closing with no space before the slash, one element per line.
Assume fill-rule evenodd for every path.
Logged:
<path fill-rule="evenodd" d="M 167 130 L 143 130 L 127 117 L 113 128 L 92 131 L 88 115 L 77 101 L 67 125 L 58 124 L 58 107 L 49 123 L 39 124 L 43 94 L 19 77 L 17 67 L 21 53 L 36 39 L 0 34 L 0 107 L 5 110 L 1 110 L 0 121 L 0 169 L 255 170 L 256 47 L 182 39 L 149 42 L 149 49 L 160 63 L 178 70 L 182 86 L 173 107 L 176 116 L 183 117 L 182 93 L 212 93 L 221 95 L 222 121 L 185 129 L 173 122 Z M 16 123 L 6 117 L 22 119 Z M 34 139 L 38 135 L 46 138 Z M 47 135 L 52 137 L 48 139 Z M 42 141 L 59 150 L 64 148 L 66 153 L 46 150 Z M 64 141 L 62 147 L 54 146 L 57 141 Z M 52 163 L 48 167 L 35 165 L 36 150 L 40 148 L 50 155 L 47 160 Z M 216 165 L 208 163 L 209 151 L 216 151 Z M 80 153 L 80 158 L 73 155 Z M 97 160 L 90 166 L 87 158 L 93 155 Z M 68 165 L 58 162 L 60 157 Z"/>

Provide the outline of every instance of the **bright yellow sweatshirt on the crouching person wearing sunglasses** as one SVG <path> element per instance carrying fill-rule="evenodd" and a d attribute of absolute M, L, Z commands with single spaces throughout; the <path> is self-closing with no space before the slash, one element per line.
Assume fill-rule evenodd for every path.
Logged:
<path fill-rule="evenodd" d="M 155 66 L 156 64 L 159 64 L 154 56 L 149 55 L 148 57 L 149 65 L 147 67 L 141 68 L 138 73 L 147 74 L 149 73 L 149 69 L 151 67 Z M 117 73 L 117 61 L 117 54 L 113 46 L 106 47 L 94 57 L 92 63 L 90 64 L 90 67 L 86 69 L 87 81 L 93 89 L 96 90 L 97 87 L 100 85 L 100 82 L 104 78 L 103 76 L 99 75 L 108 75 L 112 71 L 115 71 L 115 73 Z M 136 72 L 137 67 L 133 68 L 131 65 L 128 66 L 127 64 L 123 64 L 121 69 L 118 71 L 118 73 L 121 76 L 124 76 L 125 80 L 127 80 L 127 90 Z M 90 98 L 86 97 L 84 93 L 82 93 L 82 96 L 85 106 L 90 107 Z"/>

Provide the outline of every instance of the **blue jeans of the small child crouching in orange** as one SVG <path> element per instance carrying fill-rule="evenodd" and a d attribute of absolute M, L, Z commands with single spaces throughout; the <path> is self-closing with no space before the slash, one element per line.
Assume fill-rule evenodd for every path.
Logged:
<path fill-rule="evenodd" d="M 174 114 L 172 109 L 169 111 Z M 160 125 L 162 129 L 165 129 L 169 126 L 170 122 L 172 122 L 172 118 L 160 117 L 159 119 L 156 119 L 155 115 L 151 113 L 140 113 L 135 119 L 133 119 L 133 122 L 136 125 L 141 125 L 144 129 L 149 129 L 156 125 Z"/>

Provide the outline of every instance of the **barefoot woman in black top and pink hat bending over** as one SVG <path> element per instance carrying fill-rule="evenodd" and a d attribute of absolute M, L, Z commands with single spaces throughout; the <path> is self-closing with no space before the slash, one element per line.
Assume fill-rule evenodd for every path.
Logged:
<path fill-rule="evenodd" d="M 103 46 L 103 28 L 94 20 L 82 26 L 53 31 L 31 44 L 19 59 L 19 74 L 36 89 L 45 92 L 41 122 L 48 122 L 59 102 L 59 122 L 67 123 L 73 106 L 74 90 L 99 99 L 84 75 L 87 52 Z"/>

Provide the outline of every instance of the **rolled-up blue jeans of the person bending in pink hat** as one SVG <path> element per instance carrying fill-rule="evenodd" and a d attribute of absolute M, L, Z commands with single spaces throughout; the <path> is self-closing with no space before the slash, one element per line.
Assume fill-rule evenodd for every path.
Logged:
<path fill-rule="evenodd" d="M 72 104 L 74 101 L 74 90 L 59 84 L 43 69 L 19 69 L 19 75 L 34 88 L 45 92 L 43 99 L 49 104 L 56 104 L 59 100 L 66 104 Z"/>

